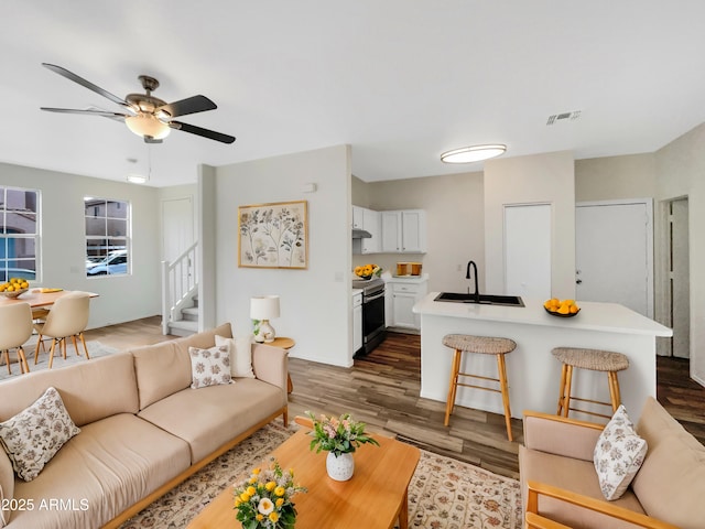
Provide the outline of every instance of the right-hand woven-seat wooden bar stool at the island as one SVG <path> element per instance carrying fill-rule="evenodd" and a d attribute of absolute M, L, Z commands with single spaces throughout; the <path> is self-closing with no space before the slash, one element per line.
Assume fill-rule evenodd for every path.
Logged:
<path fill-rule="evenodd" d="M 592 402 L 594 404 L 611 407 L 612 413 L 617 411 L 617 408 L 619 408 L 619 404 L 621 403 L 617 371 L 621 371 L 629 367 L 629 358 L 621 353 L 612 353 L 610 350 L 601 349 L 582 349 L 576 347 L 556 347 L 552 353 L 553 356 L 563 363 L 563 367 L 561 369 L 558 410 L 556 411 L 556 414 L 568 417 L 568 412 L 573 410 L 610 419 L 611 415 L 582 410 L 579 408 L 571 408 L 571 401 L 578 400 L 581 402 Z M 574 367 L 577 367 L 578 369 L 589 369 L 593 371 L 607 371 L 610 401 L 603 402 L 599 400 L 581 399 L 579 397 L 571 395 Z"/>

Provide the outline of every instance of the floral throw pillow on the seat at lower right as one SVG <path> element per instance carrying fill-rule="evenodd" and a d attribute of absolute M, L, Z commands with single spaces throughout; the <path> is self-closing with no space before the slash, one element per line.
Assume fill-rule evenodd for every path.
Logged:
<path fill-rule="evenodd" d="M 593 462 L 606 499 L 619 499 L 641 468 L 647 455 L 647 441 L 634 432 L 634 425 L 620 406 L 603 430 Z"/>

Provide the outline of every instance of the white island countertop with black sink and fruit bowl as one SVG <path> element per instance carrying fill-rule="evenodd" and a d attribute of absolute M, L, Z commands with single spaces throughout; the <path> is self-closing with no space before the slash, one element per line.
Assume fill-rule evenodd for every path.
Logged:
<path fill-rule="evenodd" d="M 486 320 L 592 330 L 649 336 L 672 336 L 673 331 L 617 303 L 577 301 L 581 312 L 575 317 L 552 316 L 543 307 L 544 300 L 522 298 L 525 306 L 477 305 L 434 301 L 440 292 L 431 292 L 416 303 L 413 312 L 422 315 Z"/>

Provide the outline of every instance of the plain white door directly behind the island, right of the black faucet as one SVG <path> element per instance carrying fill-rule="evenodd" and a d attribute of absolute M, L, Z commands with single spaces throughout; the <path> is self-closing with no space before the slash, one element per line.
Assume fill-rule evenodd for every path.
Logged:
<path fill-rule="evenodd" d="M 551 298 L 550 204 L 505 206 L 503 293 Z"/>

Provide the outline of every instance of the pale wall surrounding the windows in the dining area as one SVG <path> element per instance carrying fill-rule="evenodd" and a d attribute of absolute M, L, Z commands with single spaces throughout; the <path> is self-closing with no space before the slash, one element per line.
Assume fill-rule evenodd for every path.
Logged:
<path fill-rule="evenodd" d="M 96 292 L 88 327 L 160 313 L 158 192 L 153 187 L 0 163 L 0 185 L 33 188 L 42 201 L 42 281 Z M 84 197 L 128 201 L 132 206 L 132 273 L 86 278 Z"/>

